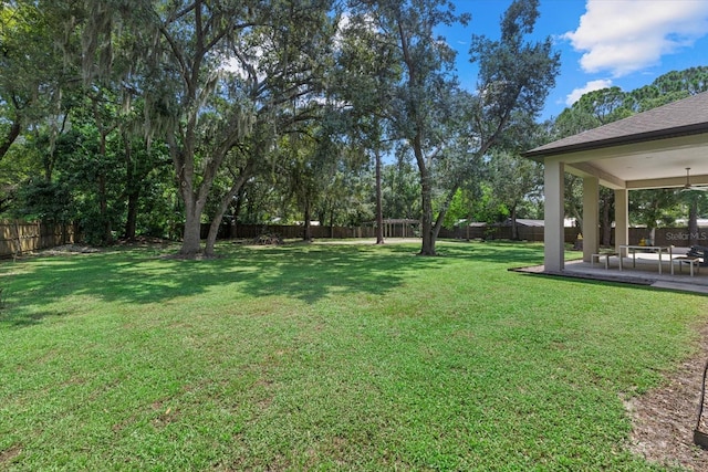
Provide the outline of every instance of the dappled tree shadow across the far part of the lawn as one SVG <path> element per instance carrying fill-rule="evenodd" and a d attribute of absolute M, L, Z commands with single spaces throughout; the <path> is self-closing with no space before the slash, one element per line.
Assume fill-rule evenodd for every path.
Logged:
<path fill-rule="evenodd" d="M 332 293 L 384 294 L 418 270 L 441 269 L 441 258 L 419 258 L 410 247 L 223 247 L 222 256 L 189 261 L 134 249 L 32 258 L 0 272 L 8 303 L 0 324 L 30 326 L 70 296 L 131 304 L 160 303 L 231 285 L 241 294 L 285 295 L 314 303 Z"/>

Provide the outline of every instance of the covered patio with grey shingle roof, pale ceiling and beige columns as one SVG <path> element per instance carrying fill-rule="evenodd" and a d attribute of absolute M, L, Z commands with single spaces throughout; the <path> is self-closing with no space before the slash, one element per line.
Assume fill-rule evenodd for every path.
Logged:
<path fill-rule="evenodd" d="M 524 156 L 544 165 L 543 272 L 572 275 L 581 263 L 593 269 L 592 255 L 600 249 L 600 186 L 614 190 L 614 251 L 627 260 L 631 190 L 708 185 L 708 92 L 540 146 Z M 565 172 L 583 179 L 582 262 L 565 261 Z M 665 264 L 669 269 L 669 263 Z M 604 264 L 595 268 L 608 271 Z M 624 279 L 636 271 L 632 264 L 622 272 L 614 270 Z M 656 265 L 654 272 L 659 275 Z M 693 281 L 686 270 L 674 277 L 698 284 L 704 275 L 708 279 L 708 268 L 704 272 L 690 277 Z M 668 276 L 670 271 L 662 275 Z"/>

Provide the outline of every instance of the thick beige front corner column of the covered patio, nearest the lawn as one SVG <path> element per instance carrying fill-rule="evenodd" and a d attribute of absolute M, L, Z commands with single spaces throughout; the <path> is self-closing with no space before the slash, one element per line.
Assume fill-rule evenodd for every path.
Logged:
<path fill-rule="evenodd" d="M 545 271 L 560 272 L 565 268 L 564 172 L 563 162 L 546 159 L 543 170 L 544 228 L 543 264 Z"/>

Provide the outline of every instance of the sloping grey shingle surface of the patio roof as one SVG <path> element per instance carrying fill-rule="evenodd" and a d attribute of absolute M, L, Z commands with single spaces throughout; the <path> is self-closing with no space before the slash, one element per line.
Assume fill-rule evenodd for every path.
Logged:
<path fill-rule="evenodd" d="M 708 133 L 708 92 L 549 143 L 524 156 L 535 158 L 700 133 Z"/>

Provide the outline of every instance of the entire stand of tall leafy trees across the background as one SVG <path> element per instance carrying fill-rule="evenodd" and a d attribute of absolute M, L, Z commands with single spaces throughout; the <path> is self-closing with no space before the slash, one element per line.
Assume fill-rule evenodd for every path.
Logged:
<path fill-rule="evenodd" d="M 473 34 L 464 90 L 437 32 L 469 15 L 448 0 L 4 1 L 0 211 L 97 244 L 179 238 L 186 258 L 227 217 L 305 239 L 312 220 L 418 219 L 435 254 L 442 225 L 538 216 L 521 150 L 707 87 L 674 72 L 539 124 L 560 56 L 528 39 L 538 17 L 514 0 L 498 38 Z"/>

